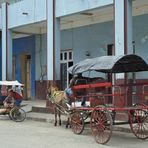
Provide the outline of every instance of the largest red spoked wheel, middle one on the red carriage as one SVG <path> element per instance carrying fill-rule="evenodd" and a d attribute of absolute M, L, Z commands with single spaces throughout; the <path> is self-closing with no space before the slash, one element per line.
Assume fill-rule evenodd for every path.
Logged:
<path fill-rule="evenodd" d="M 108 110 L 93 110 L 90 125 L 97 143 L 104 144 L 110 140 L 113 121 Z"/>

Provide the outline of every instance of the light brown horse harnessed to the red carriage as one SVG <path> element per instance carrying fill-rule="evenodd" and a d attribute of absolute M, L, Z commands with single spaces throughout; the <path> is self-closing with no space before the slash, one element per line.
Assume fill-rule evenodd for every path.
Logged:
<path fill-rule="evenodd" d="M 66 99 L 64 97 L 64 91 L 60 91 L 56 85 L 50 85 L 48 88 L 49 100 L 54 104 L 54 114 L 55 122 L 54 125 L 57 126 L 57 115 L 59 117 L 59 125 L 61 125 L 61 113 L 68 115 L 68 120 L 66 123 L 66 128 L 69 126 L 69 113 L 68 107 L 66 105 Z"/>

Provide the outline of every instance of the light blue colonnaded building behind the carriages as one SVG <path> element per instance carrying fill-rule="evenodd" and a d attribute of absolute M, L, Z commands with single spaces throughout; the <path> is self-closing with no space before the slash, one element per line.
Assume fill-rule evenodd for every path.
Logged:
<path fill-rule="evenodd" d="M 134 53 L 148 62 L 147 0 L 18 0 L 2 3 L 0 17 L 1 79 L 24 83 L 32 100 L 46 99 L 50 81 L 64 89 L 67 68 L 86 58 Z"/>

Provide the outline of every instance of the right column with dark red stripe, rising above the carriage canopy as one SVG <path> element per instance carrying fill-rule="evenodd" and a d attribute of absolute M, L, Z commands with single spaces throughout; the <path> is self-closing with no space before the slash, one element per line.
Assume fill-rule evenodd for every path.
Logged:
<path fill-rule="evenodd" d="M 114 0 L 115 55 L 132 53 L 132 0 Z"/>

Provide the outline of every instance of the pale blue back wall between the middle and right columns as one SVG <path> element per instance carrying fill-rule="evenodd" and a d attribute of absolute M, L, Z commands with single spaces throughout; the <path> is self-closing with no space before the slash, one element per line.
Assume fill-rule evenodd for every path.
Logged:
<path fill-rule="evenodd" d="M 88 26 L 63 30 L 61 32 L 61 49 L 72 49 L 74 64 L 87 59 L 103 55 L 107 55 L 107 45 L 113 44 L 113 21 L 90 24 Z M 90 56 L 86 56 L 86 52 Z M 84 74 L 85 76 L 96 76 L 91 72 Z M 104 74 L 98 73 L 97 76 L 105 77 Z"/>

